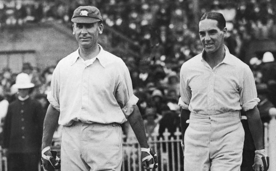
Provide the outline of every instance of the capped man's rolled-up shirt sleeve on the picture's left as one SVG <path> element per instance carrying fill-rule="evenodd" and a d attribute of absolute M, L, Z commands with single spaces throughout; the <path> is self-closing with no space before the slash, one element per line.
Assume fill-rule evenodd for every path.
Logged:
<path fill-rule="evenodd" d="M 50 104 L 57 109 L 57 111 L 60 111 L 60 102 L 59 102 L 59 92 L 60 92 L 60 86 L 59 86 L 59 70 L 58 66 L 55 68 L 52 80 L 51 80 L 51 91 L 47 94 L 47 99 L 50 102 Z"/>

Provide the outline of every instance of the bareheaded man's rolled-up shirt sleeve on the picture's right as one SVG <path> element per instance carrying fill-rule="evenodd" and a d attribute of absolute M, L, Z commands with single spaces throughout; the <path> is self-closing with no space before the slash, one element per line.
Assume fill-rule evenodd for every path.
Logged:
<path fill-rule="evenodd" d="M 243 81 L 240 87 L 240 96 L 241 107 L 244 111 L 253 109 L 260 102 L 260 99 L 257 97 L 254 76 L 249 67 L 243 76 Z"/>

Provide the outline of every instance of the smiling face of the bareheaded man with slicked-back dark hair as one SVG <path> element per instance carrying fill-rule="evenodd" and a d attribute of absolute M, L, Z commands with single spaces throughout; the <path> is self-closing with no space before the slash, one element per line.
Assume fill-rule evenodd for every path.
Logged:
<path fill-rule="evenodd" d="M 214 53 L 220 47 L 223 47 L 227 29 L 220 30 L 217 24 L 218 21 L 211 19 L 204 19 L 199 22 L 200 41 L 207 53 Z"/>

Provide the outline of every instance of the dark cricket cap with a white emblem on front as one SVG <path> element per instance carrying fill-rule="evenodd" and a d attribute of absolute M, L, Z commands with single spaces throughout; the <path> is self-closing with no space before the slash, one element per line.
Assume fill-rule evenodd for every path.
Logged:
<path fill-rule="evenodd" d="M 80 6 L 75 9 L 71 19 L 74 23 L 94 23 L 103 21 L 100 10 L 92 6 Z"/>

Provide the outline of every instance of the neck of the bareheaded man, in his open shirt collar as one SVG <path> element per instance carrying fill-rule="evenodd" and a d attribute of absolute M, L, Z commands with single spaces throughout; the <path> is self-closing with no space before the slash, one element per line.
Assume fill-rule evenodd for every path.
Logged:
<path fill-rule="evenodd" d="M 218 51 L 214 53 L 204 53 L 204 59 L 209 64 L 209 66 L 213 69 L 219 63 L 223 61 L 225 57 L 225 49 L 224 47 L 220 48 Z"/>

